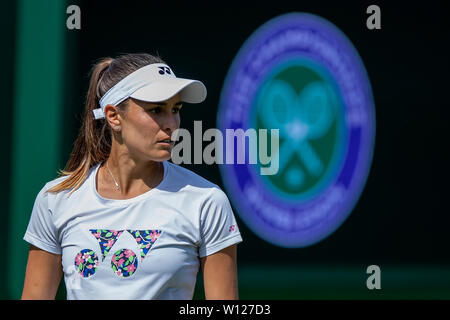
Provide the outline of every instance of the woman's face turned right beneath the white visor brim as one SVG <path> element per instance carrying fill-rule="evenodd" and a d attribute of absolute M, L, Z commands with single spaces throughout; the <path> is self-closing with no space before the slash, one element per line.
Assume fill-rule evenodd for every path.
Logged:
<path fill-rule="evenodd" d="M 121 119 L 121 134 L 130 153 L 145 160 L 170 159 L 174 142 L 172 132 L 180 126 L 179 94 L 158 103 L 128 100 L 126 116 Z"/>

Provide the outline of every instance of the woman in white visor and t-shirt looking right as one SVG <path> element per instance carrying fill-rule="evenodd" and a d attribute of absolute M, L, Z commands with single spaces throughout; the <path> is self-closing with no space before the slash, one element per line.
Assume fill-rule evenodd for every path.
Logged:
<path fill-rule="evenodd" d="M 192 299 L 201 266 L 206 299 L 237 299 L 227 196 L 170 159 L 182 102 L 200 81 L 158 57 L 105 58 L 91 71 L 84 119 L 61 176 L 38 193 L 22 299 Z"/>

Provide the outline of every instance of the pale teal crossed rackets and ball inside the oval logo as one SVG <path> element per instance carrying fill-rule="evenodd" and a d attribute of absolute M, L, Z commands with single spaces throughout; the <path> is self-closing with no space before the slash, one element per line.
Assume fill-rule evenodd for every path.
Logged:
<path fill-rule="evenodd" d="M 267 129 L 279 129 L 280 139 L 283 139 L 278 150 L 279 168 L 280 173 L 286 171 L 288 185 L 301 186 L 305 177 L 304 169 L 298 165 L 288 166 L 294 156 L 299 157 L 309 175 L 319 177 L 324 172 L 324 163 L 310 141 L 329 131 L 336 116 L 335 106 L 333 90 L 322 81 L 309 83 L 300 94 L 278 79 L 262 88 L 261 120 Z"/>

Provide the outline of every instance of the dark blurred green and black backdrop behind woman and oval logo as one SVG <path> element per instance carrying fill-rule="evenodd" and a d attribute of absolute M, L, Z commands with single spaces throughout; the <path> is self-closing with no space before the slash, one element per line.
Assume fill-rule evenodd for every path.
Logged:
<path fill-rule="evenodd" d="M 78 135 L 88 73 L 101 57 L 159 54 L 178 76 L 200 79 L 207 100 L 188 106 L 181 126 L 215 128 L 225 76 L 245 40 L 289 12 L 319 15 L 359 52 L 376 109 L 372 167 L 356 207 L 326 239 L 288 249 L 240 220 L 241 299 L 449 299 L 449 25 L 443 1 L 189 2 L 19 0 L 2 3 L 2 299 L 20 298 L 35 197 L 63 169 Z M 66 8 L 81 9 L 69 30 Z M 366 9 L 381 9 L 381 30 Z M 184 165 L 223 187 L 216 165 Z M 369 265 L 381 290 L 368 290 Z M 57 295 L 65 299 L 63 282 Z M 195 299 L 203 299 L 199 273 Z"/>

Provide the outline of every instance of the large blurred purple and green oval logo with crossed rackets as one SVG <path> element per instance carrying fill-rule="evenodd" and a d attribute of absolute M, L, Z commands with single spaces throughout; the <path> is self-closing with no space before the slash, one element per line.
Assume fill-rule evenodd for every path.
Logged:
<path fill-rule="evenodd" d="M 279 130 L 278 153 L 267 144 L 277 174 L 219 166 L 237 213 L 261 238 L 308 246 L 353 210 L 372 161 L 374 102 L 358 53 L 330 22 L 291 13 L 256 30 L 230 67 L 217 121 L 222 132 Z"/>

